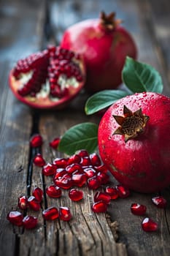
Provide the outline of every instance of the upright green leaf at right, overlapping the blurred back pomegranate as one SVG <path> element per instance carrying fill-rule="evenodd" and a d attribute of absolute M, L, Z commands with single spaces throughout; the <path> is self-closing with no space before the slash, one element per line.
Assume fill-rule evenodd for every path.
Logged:
<path fill-rule="evenodd" d="M 123 67 L 123 82 L 131 91 L 163 91 L 163 82 L 158 71 L 148 64 L 126 57 Z"/>

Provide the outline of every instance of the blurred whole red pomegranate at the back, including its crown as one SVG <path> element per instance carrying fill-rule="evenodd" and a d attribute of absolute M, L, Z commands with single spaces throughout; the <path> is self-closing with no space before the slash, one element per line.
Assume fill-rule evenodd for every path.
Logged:
<path fill-rule="evenodd" d="M 66 29 L 61 47 L 84 56 L 87 68 L 86 89 L 101 91 L 115 89 L 122 82 L 125 57 L 136 59 L 136 45 L 115 13 L 100 19 L 84 20 Z"/>

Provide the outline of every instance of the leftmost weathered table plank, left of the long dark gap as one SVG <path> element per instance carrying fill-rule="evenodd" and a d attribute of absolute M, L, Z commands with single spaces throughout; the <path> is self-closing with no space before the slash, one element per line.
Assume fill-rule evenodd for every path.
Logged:
<path fill-rule="evenodd" d="M 37 25 L 42 17 L 39 7 L 43 2 L 34 1 L 31 4 L 26 1 L 1 1 L 0 7 L 1 255 L 19 255 L 20 247 L 23 246 L 23 228 L 12 227 L 6 216 L 8 211 L 17 208 L 18 197 L 27 193 L 29 138 L 32 129 L 31 110 L 12 95 L 8 75 L 15 61 L 41 47 L 42 36 Z"/>

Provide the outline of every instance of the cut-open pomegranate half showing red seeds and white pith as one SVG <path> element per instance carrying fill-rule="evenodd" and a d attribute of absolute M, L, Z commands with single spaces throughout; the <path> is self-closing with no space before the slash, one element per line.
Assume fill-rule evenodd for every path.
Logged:
<path fill-rule="evenodd" d="M 85 82 L 85 64 L 80 54 L 60 47 L 20 59 L 9 74 L 15 96 L 33 108 L 63 108 Z"/>

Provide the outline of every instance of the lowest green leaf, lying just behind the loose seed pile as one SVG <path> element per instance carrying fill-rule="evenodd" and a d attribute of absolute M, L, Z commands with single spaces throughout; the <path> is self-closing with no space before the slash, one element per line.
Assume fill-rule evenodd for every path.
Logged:
<path fill-rule="evenodd" d="M 89 153 L 98 145 L 98 125 L 90 122 L 77 124 L 66 131 L 61 138 L 58 150 L 72 155 L 75 151 L 86 149 Z"/>

